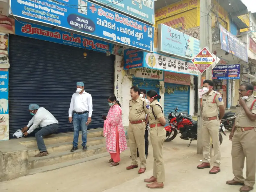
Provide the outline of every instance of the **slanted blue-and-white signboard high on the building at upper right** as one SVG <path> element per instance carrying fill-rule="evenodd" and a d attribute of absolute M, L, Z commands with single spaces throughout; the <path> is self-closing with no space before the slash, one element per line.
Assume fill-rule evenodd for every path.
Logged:
<path fill-rule="evenodd" d="M 220 48 L 248 62 L 247 45 L 220 25 Z"/>

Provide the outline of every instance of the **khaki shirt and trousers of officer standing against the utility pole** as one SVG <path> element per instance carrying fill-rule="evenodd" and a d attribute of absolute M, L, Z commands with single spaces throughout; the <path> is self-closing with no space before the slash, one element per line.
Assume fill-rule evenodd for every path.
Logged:
<path fill-rule="evenodd" d="M 214 99 L 215 98 L 215 99 Z M 224 105 L 222 97 L 219 92 L 212 91 L 209 94 L 204 94 L 203 101 L 203 127 L 202 127 L 202 139 L 203 139 L 203 163 L 210 163 L 210 149 L 211 138 L 214 146 L 214 166 L 220 166 L 220 120 L 219 120 L 219 106 Z M 211 120 L 211 118 L 215 120 Z"/>

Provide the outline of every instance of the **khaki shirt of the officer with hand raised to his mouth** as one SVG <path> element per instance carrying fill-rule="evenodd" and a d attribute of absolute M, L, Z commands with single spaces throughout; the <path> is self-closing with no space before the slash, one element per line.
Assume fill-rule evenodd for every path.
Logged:
<path fill-rule="evenodd" d="M 250 96 L 247 99 L 245 99 L 246 106 L 250 109 L 252 107 L 253 101 L 256 100 L 256 97 Z M 236 127 L 254 127 L 256 128 L 256 121 L 251 121 L 250 118 L 246 115 L 244 108 L 242 108 L 239 104 L 239 101 L 237 103 L 236 107 Z M 256 102 L 253 104 L 252 110 L 250 111 L 253 114 L 256 114 Z"/>

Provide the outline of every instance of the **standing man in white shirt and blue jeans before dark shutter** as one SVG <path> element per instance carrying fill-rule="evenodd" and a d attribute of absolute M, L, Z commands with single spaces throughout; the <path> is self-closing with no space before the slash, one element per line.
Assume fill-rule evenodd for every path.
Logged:
<path fill-rule="evenodd" d="M 87 150 L 87 126 L 92 122 L 92 96 L 84 91 L 84 83 L 76 83 L 76 93 L 72 95 L 70 108 L 68 110 L 69 123 L 72 122 L 72 113 L 74 112 L 74 140 L 71 152 L 78 149 L 79 130 L 82 131 L 83 150 Z"/>

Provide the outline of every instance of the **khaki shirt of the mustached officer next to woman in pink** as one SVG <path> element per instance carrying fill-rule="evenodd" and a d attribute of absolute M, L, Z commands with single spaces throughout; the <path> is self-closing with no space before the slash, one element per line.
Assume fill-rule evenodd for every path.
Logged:
<path fill-rule="evenodd" d="M 145 99 L 139 97 L 136 101 L 130 100 L 129 121 L 145 120 L 146 114 L 148 114 L 148 109 Z"/>

